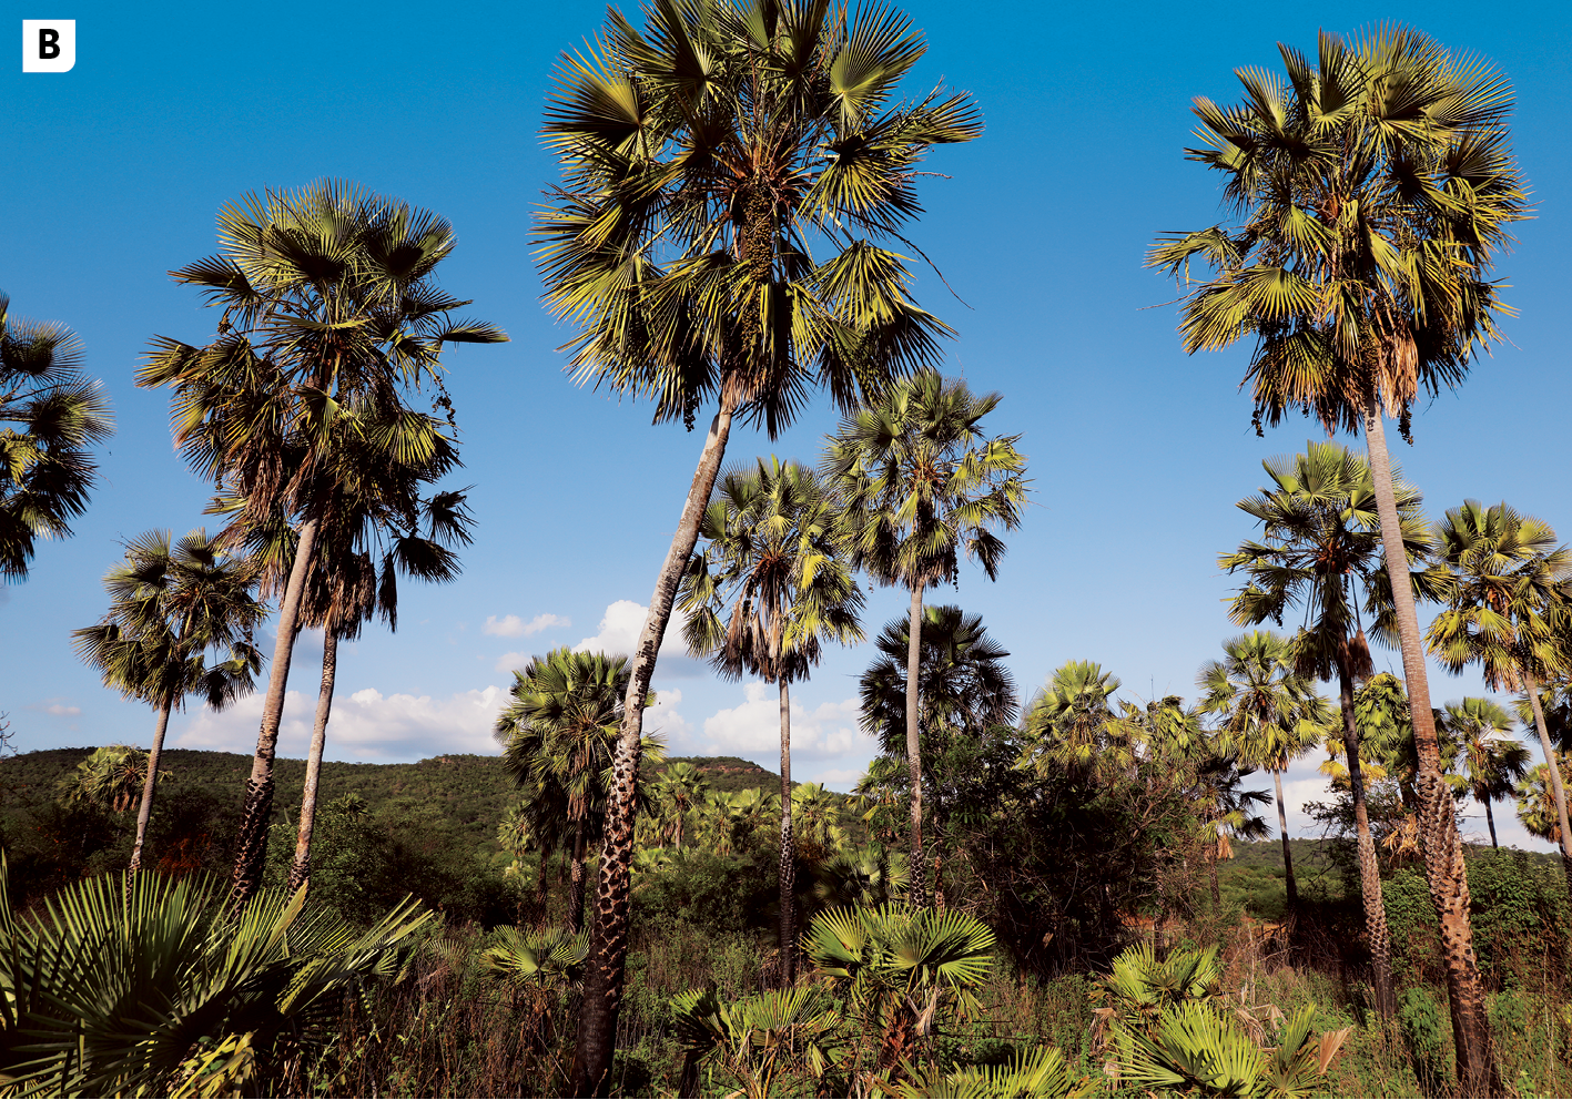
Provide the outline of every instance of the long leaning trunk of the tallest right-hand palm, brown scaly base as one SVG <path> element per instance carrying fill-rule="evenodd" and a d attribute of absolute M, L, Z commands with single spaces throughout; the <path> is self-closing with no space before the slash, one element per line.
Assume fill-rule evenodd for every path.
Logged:
<path fill-rule="evenodd" d="M 1364 435 L 1369 445 L 1376 511 L 1380 515 L 1387 574 L 1391 577 L 1393 610 L 1402 643 L 1402 676 L 1409 690 L 1413 720 L 1413 746 L 1420 759 L 1415 787 L 1420 803 L 1420 842 L 1424 850 L 1424 878 L 1442 932 L 1446 963 L 1446 998 L 1453 1017 L 1453 1047 L 1457 1053 L 1457 1083 L 1464 1095 L 1497 1095 L 1501 1076 L 1490 1047 L 1484 984 L 1475 959 L 1473 927 L 1468 922 L 1468 869 L 1464 864 L 1462 836 L 1453 814 L 1453 795 L 1442 779 L 1442 750 L 1435 740 L 1431 712 L 1431 684 L 1420 649 L 1420 618 L 1409 581 L 1409 555 L 1398 520 L 1398 498 L 1391 487 L 1391 459 L 1387 456 L 1387 427 L 1376 393 L 1364 399 Z"/>

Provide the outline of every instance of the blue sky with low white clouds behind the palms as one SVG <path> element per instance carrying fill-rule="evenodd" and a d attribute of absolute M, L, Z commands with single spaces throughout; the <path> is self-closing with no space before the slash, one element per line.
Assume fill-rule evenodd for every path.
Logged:
<path fill-rule="evenodd" d="M 31 5 L 31 0 L 28 0 Z M 167 394 L 132 387 L 154 335 L 200 343 L 214 317 L 165 272 L 215 248 L 223 203 L 263 187 L 347 178 L 442 212 L 459 247 L 448 289 L 512 343 L 451 354 L 479 520 L 462 580 L 406 586 L 401 629 L 340 658 L 329 751 L 420 759 L 490 751 L 512 655 L 550 644 L 627 646 L 670 542 L 701 437 L 649 424 L 643 405 L 575 388 L 555 350 L 569 333 L 539 305 L 530 217 L 553 165 L 538 140 L 556 55 L 593 35 L 604 6 L 555 5 L 8 5 L 13 19 L 74 17 L 69 74 L 0 68 L 8 140 L 0 168 L 0 288 L 24 316 L 72 325 L 104 380 L 118 434 L 74 539 L 42 545 L 24 585 L 0 588 L 0 710 L 24 750 L 146 743 L 151 715 L 104 690 L 69 632 L 102 613 L 99 578 L 119 542 L 204 522 L 208 490 L 173 453 Z M 440 14 L 434 14 L 439 13 Z M 1412 22 L 1495 61 L 1519 94 L 1515 148 L 1537 204 L 1501 275 L 1522 316 L 1511 344 L 1456 394 L 1423 405 L 1394 460 L 1432 515 L 1465 497 L 1506 498 L 1572 533 L 1561 421 L 1572 398 L 1564 266 L 1572 163 L 1564 102 L 1572 17 L 1561 5 L 940 5 L 907 11 L 929 39 L 912 91 L 973 91 L 987 132 L 940 149 L 916 240 L 935 278 L 918 295 L 960 333 L 949 371 L 1005 402 L 989 426 L 1019 432 L 1034 503 L 998 583 L 975 569 L 937 599 L 981 611 L 1033 688 L 1072 658 L 1100 662 L 1130 698 L 1193 695 L 1196 668 L 1234 633 L 1217 553 L 1250 533 L 1234 501 L 1264 457 L 1319 437 L 1295 423 L 1256 438 L 1237 391 L 1245 352 L 1185 357 L 1171 284 L 1141 270 L 1160 231 L 1217 218 L 1217 182 L 1187 163 L 1192 96 L 1231 101 L 1234 68 L 1311 49 L 1317 28 Z M 13 39 L 14 41 L 14 39 Z M 14 57 L 14 55 L 13 55 Z M 1561 121 L 1556 121 L 1561 119 Z M 1558 138 L 1556 135 L 1563 137 Z M 811 459 L 835 424 L 810 409 L 775 443 L 733 435 L 729 459 Z M 869 633 L 901 614 L 871 597 Z M 868 646 L 832 654 L 794 691 L 794 773 L 844 787 L 868 759 L 855 680 Z M 314 698 L 307 638 L 296 655 L 285 754 L 302 754 Z M 1394 655 L 1377 663 L 1398 666 Z M 1437 701 L 1481 690 L 1432 669 Z M 773 767 L 773 702 L 671 654 L 651 721 L 673 753 L 736 753 Z M 250 751 L 256 701 L 178 717 L 170 743 Z M 1314 761 L 1289 800 L 1317 797 Z M 1503 808 L 1504 809 L 1504 808 Z M 1470 808 L 1471 814 L 1478 814 Z M 1498 820 L 1511 820 L 1511 812 Z M 1295 812 L 1297 825 L 1305 820 Z M 1482 816 L 1468 828 L 1482 833 Z M 1526 842 L 1515 822 L 1504 830 Z"/>

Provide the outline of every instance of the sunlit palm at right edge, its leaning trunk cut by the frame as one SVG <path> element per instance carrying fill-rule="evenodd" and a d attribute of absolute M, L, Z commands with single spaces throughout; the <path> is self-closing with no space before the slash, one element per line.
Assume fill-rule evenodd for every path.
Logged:
<path fill-rule="evenodd" d="M 1566 635 L 1572 625 L 1566 581 L 1572 550 L 1556 545 L 1555 530 L 1504 501 L 1486 508 L 1476 500 L 1449 508 L 1437 525 L 1437 561 L 1451 574 L 1446 608 L 1424 640 L 1440 662 L 1456 671 L 1479 663 L 1492 691 L 1519 690 L 1534 712 L 1545 753 L 1545 773 L 1561 823 L 1561 863 L 1572 896 L 1572 830 L 1556 750 L 1539 704 L 1539 685 L 1572 671 Z"/>

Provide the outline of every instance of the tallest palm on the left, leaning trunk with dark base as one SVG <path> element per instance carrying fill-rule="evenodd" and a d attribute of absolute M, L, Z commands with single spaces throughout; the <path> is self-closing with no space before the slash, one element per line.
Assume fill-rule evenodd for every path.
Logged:
<path fill-rule="evenodd" d="M 215 508 L 234 509 L 230 537 L 278 517 L 296 531 L 269 586 L 281 588 L 278 640 L 236 844 L 239 907 L 263 874 L 289 658 L 318 536 L 333 520 L 329 489 L 355 448 L 428 468 L 456 462 L 442 421 L 406 398 L 429 382 L 451 410 L 442 346 L 506 336 L 451 317 L 468 303 L 437 288 L 434 270 L 453 226 L 428 211 L 319 182 L 248 195 L 219 225 L 220 253 L 171 272 L 223 306 L 214 341 L 156 338 L 137 383 L 174 388 L 176 443 L 220 487 Z"/>

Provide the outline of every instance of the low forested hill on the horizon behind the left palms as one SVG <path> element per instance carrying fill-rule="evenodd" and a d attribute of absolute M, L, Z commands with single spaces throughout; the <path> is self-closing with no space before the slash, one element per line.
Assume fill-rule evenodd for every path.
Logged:
<path fill-rule="evenodd" d="M 57 783 L 69 773 L 91 748 L 50 748 L 0 761 L 0 836 L 5 820 L 13 822 L 30 811 L 52 803 Z M 736 756 L 671 757 L 657 770 L 687 761 L 704 772 L 712 790 L 731 792 L 762 787 L 766 794 L 780 790 L 780 776 L 751 761 Z M 204 750 L 165 750 L 160 770 L 168 778 L 160 795 L 234 803 L 239 809 L 252 757 L 241 753 Z M 305 784 L 305 761 L 278 757 L 275 762 L 278 794 L 274 822 L 292 822 L 300 808 Z M 434 756 L 418 764 L 346 764 L 327 761 L 318 800 L 327 805 L 347 794 L 358 794 L 373 811 L 421 809 L 443 819 L 468 849 L 495 849 L 497 822 L 517 798 L 512 776 L 500 756 L 454 753 Z"/>

